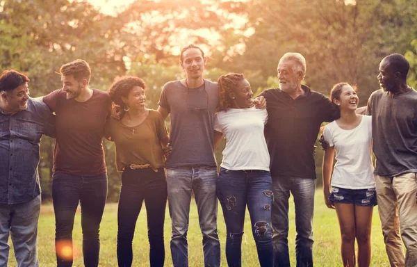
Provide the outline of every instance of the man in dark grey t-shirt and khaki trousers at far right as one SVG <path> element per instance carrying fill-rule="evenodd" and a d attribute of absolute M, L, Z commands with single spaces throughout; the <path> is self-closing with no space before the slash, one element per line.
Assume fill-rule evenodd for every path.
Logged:
<path fill-rule="evenodd" d="M 407 86 L 409 63 L 400 54 L 379 64 L 382 89 L 370 95 L 375 184 L 391 266 L 417 266 L 417 92 Z M 402 250 L 401 237 L 407 252 Z"/>

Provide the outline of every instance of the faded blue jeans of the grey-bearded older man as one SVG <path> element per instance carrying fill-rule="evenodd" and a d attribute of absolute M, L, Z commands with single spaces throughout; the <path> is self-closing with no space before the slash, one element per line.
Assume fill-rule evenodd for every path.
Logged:
<path fill-rule="evenodd" d="M 288 199 L 295 204 L 295 257 L 297 267 L 313 266 L 313 212 L 316 179 L 272 177 L 272 243 L 275 266 L 290 266 L 288 254 Z"/>

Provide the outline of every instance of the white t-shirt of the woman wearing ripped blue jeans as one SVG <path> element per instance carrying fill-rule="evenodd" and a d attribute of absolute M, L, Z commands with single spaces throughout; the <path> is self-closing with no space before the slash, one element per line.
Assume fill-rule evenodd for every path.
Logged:
<path fill-rule="evenodd" d="M 228 108 L 215 115 L 214 129 L 223 133 L 226 148 L 221 167 L 227 170 L 268 170 L 270 156 L 263 128 L 266 109 Z"/>

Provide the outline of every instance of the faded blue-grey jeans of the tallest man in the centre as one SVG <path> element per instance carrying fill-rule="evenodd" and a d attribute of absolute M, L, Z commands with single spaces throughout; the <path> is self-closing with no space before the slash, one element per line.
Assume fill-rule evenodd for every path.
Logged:
<path fill-rule="evenodd" d="M 191 191 L 199 214 L 203 235 L 204 266 L 220 266 L 220 242 L 217 230 L 215 167 L 181 167 L 167 169 L 168 207 L 172 220 L 171 254 L 176 267 L 188 266 L 188 218 Z"/>

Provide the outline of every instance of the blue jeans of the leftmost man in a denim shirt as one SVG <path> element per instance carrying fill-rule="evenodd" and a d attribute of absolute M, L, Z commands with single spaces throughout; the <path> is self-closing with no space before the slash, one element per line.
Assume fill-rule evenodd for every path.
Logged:
<path fill-rule="evenodd" d="M 17 266 L 37 267 L 40 195 L 19 204 L 0 204 L 0 266 L 8 266 L 11 234 Z"/>

